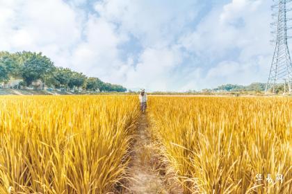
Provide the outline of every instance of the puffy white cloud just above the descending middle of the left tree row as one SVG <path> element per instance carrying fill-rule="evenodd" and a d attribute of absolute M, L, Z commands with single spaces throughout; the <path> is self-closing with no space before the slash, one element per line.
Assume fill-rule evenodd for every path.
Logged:
<path fill-rule="evenodd" d="M 90 76 L 98 73 L 102 79 L 117 81 L 113 75 L 122 65 L 117 46 L 125 37 L 115 33 L 114 28 L 115 26 L 102 18 L 92 15 L 89 17 L 83 32 L 86 40 L 76 46 L 72 53 L 74 69 L 85 71 Z"/>

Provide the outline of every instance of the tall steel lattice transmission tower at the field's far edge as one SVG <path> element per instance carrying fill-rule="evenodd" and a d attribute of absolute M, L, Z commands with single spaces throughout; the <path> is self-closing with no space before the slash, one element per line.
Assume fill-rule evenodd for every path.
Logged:
<path fill-rule="evenodd" d="M 286 90 L 284 93 L 291 94 L 292 64 L 287 41 L 291 37 L 287 35 L 287 30 L 292 29 L 292 25 L 289 26 L 289 21 L 292 21 L 292 19 L 287 17 L 287 13 L 292 11 L 292 8 L 288 8 L 289 2 L 292 0 L 273 1 L 275 4 L 272 6 L 272 17 L 275 21 L 271 23 L 273 27 L 272 34 L 274 35 L 274 39 L 271 42 L 275 44 L 275 52 L 270 67 L 266 92 L 272 91 L 275 93 L 275 86 L 283 84 L 284 90 Z"/>

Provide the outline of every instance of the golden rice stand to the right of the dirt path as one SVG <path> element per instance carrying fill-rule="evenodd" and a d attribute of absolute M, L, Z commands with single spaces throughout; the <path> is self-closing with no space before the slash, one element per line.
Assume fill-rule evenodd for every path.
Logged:
<path fill-rule="evenodd" d="M 148 112 L 184 193 L 292 193 L 292 98 L 152 97 Z"/>

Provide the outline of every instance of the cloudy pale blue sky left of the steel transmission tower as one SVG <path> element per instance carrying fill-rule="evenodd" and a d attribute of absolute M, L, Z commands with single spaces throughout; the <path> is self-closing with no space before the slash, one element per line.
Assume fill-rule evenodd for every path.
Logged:
<path fill-rule="evenodd" d="M 272 0 L 0 0 L 0 50 L 127 88 L 266 82 Z"/>

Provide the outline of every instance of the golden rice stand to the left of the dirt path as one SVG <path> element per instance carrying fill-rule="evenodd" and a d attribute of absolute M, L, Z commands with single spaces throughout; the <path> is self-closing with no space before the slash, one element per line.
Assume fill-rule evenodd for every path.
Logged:
<path fill-rule="evenodd" d="M 0 98 L 0 193 L 107 193 L 124 177 L 133 96 Z"/>

